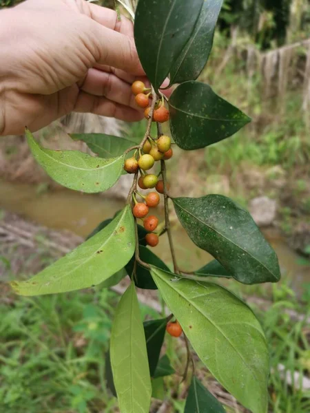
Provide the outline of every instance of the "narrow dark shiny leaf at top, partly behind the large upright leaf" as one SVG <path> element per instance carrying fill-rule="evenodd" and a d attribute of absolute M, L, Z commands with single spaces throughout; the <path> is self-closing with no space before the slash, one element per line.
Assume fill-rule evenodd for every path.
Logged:
<path fill-rule="evenodd" d="M 223 0 L 203 3 L 194 32 L 170 71 L 170 84 L 193 81 L 205 67 L 213 45 L 214 30 Z"/>

